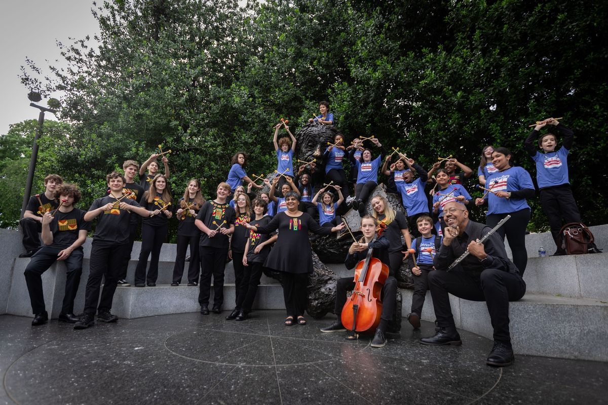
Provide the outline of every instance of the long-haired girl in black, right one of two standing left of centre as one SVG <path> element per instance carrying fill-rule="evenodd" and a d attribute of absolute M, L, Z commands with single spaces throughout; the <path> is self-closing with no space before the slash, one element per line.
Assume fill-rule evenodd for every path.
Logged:
<path fill-rule="evenodd" d="M 178 211 L 175 213 L 179 220 L 178 243 L 173 267 L 172 287 L 177 287 L 184 274 L 186 249 L 190 245 L 190 266 L 188 267 L 188 286 L 198 285 L 198 275 L 201 271 L 201 260 L 198 255 L 198 242 L 201 239 L 201 230 L 196 228 L 194 220 L 198 210 L 205 203 L 201 194 L 201 182 L 192 179 L 184 191 L 184 197 L 178 201 Z"/>

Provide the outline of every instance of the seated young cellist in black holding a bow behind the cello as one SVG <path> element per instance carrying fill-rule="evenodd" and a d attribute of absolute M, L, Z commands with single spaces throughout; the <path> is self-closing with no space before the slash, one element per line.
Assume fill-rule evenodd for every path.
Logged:
<path fill-rule="evenodd" d="M 392 275 L 387 275 L 387 267 L 389 266 L 390 242 L 384 235 L 380 234 L 381 232 L 378 232 L 379 236 L 376 237 L 376 230 L 378 230 L 378 220 L 376 220 L 370 215 L 362 217 L 361 231 L 363 232 L 363 237 L 361 238 L 361 240 L 359 240 L 359 242 L 353 242 L 353 244 L 350 245 L 350 248 L 348 248 L 346 260 L 344 262 L 346 268 L 348 268 L 349 270 L 356 266 L 357 270 L 359 271 L 359 274 L 357 274 L 356 270 L 355 279 L 353 279 L 353 277 L 342 277 L 337 281 L 336 307 L 334 308 L 334 312 L 336 313 L 337 319 L 333 322 L 333 324 L 329 325 L 328 327 L 322 328 L 321 332 L 330 333 L 342 332 L 347 330 L 344 327 L 344 324 L 342 324 L 342 319 L 344 319 L 342 311 L 345 308 L 345 304 L 347 304 L 346 293 L 347 291 L 356 288 L 355 281 L 358 278 L 357 276 L 361 274 L 361 271 L 365 270 L 364 266 L 367 264 L 368 274 L 365 277 L 367 281 L 372 281 L 373 279 L 373 281 L 378 280 L 378 282 L 381 282 L 380 280 L 385 278 L 384 285 L 382 285 L 382 309 L 380 321 L 378 327 L 376 327 L 375 335 L 371 340 L 371 347 L 383 347 L 384 345 L 386 345 L 387 341 L 385 337 L 386 328 L 389 322 L 392 321 L 393 313 L 395 312 L 397 280 Z M 373 259 L 367 260 L 368 252 L 370 250 L 373 250 L 373 253 L 371 254 L 371 257 L 373 257 Z M 383 273 L 382 269 L 384 270 L 384 275 L 381 275 Z M 373 284 L 376 284 L 376 282 L 374 282 Z M 373 305 L 375 306 L 376 304 L 374 303 Z M 348 317 L 350 313 L 344 313 L 344 315 Z M 361 314 L 362 313 L 360 313 L 360 315 Z M 356 339 L 356 336 L 352 333 L 352 331 L 349 331 L 349 333 L 347 333 L 346 338 Z"/>

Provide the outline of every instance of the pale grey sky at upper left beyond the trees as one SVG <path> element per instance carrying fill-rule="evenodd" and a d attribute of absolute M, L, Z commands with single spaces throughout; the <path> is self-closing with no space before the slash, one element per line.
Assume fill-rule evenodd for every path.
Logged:
<path fill-rule="evenodd" d="M 69 37 L 92 38 L 98 33 L 91 7 L 92 0 L 0 0 L 0 135 L 9 131 L 9 124 L 38 118 L 38 109 L 27 100 L 29 89 L 19 80 L 26 57 L 43 69 L 43 75 L 49 73 L 49 63 L 65 66 L 61 60 L 55 63 L 61 57 L 57 41 L 67 44 Z M 46 99 L 38 104 L 46 106 Z M 47 113 L 45 119 L 55 117 Z"/>

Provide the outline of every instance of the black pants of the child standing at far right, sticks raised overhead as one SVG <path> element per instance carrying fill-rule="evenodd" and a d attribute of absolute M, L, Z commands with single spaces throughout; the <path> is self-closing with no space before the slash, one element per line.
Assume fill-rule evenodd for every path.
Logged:
<path fill-rule="evenodd" d="M 562 228 L 562 219 L 565 223 L 581 222 L 581 214 L 576 206 L 569 184 L 541 189 L 541 206 L 549 219 L 551 235 L 558 253 L 565 253 L 562 249 L 562 237 L 559 231 Z"/>

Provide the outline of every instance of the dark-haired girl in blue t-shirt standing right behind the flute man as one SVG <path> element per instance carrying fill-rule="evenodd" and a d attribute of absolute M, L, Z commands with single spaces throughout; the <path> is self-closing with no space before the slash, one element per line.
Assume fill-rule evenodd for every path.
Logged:
<path fill-rule="evenodd" d="M 492 228 L 507 215 L 511 219 L 496 232 L 509 241 L 513 253 L 513 263 L 523 277 L 528 263 L 525 233 L 530 221 L 530 206 L 526 199 L 534 197 L 534 184 L 530 173 L 519 166 L 511 166 L 511 152 L 506 148 L 496 148 L 492 152 L 492 163 L 498 171 L 488 177 L 489 189 L 485 199 L 475 199 L 475 205 L 488 202 L 486 225 Z"/>

